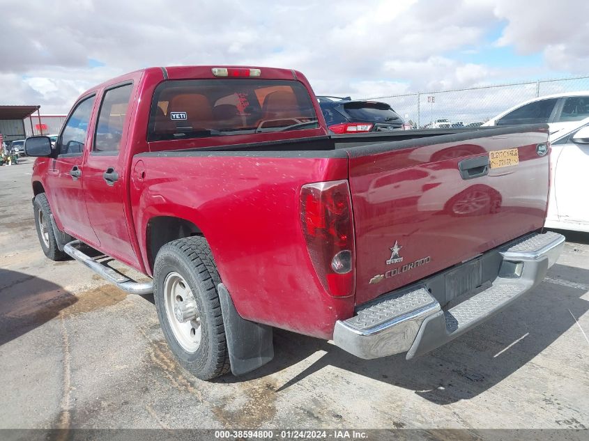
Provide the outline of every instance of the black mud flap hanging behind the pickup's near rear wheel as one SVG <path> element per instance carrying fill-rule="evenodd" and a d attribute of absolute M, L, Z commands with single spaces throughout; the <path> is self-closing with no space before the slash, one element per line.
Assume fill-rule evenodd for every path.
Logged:
<path fill-rule="evenodd" d="M 242 318 L 224 284 L 217 285 L 223 324 L 227 336 L 227 350 L 234 376 L 258 369 L 274 358 L 272 327 Z"/>

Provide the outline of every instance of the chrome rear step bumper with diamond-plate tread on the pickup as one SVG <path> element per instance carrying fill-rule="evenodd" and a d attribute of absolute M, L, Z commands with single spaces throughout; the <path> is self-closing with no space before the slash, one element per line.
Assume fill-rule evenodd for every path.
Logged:
<path fill-rule="evenodd" d="M 427 353 L 471 330 L 539 284 L 564 243 L 563 235 L 552 232 L 528 234 L 508 242 L 476 260 L 361 305 L 355 316 L 335 323 L 333 340 L 364 359 L 404 352 L 411 359 Z M 494 274 L 482 280 L 490 286 L 475 295 L 448 292 L 460 286 L 449 283 L 448 277 L 473 265 L 480 265 L 480 274 Z M 436 300 L 452 299 L 455 303 L 460 298 L 466 300 L 447 309 Z"/>

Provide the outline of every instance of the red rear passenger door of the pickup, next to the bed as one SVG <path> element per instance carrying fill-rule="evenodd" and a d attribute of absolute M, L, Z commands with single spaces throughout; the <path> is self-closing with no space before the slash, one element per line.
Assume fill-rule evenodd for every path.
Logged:
<path fill-rule="evenodd" d="M 84 164 L 86 208 L 102 252 L 137 268 L 125 212 L 125 140 L 129 126 L 132 82 L 102 93 L 91 151 Z"/>

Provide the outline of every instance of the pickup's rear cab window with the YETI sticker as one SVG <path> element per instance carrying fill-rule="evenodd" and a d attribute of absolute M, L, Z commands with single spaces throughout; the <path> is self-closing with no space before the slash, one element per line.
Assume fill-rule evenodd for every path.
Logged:
<path fill-rule="evenodd" d="M 197 79 L 155 89 L 148 141 L 319 127 L 309 93 L 296 81 Z"/>

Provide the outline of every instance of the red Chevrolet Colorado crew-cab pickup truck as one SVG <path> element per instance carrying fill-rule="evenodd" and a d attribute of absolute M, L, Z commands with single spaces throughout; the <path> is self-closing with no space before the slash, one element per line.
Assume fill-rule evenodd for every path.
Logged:
<path fill-rule="evenodd" d="M 334 135 L 300 72 L 185 66 L 91 88 L 26 153 L 46 256 L 153 292 L 211 379 L 272 359 L 273 327 L 410 359 L 530 291 L 564 240 L 542 231 L 547 129 Z"/>

